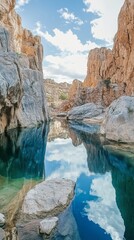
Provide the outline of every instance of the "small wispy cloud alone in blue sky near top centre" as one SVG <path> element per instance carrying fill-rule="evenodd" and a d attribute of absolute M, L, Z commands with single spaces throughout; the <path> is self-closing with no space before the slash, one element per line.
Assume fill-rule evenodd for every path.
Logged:
<path fill-rule="evenodd" d="M 66 23 L 73 22 L 78 25 L 84 24 L 84 22 L 80 18 L 76 17 L 74 13 L 69 12 L 67 8 L 61 8 L 58 10 L 58 12 L 60 13 L 61 18 L 67 20 Z"/>

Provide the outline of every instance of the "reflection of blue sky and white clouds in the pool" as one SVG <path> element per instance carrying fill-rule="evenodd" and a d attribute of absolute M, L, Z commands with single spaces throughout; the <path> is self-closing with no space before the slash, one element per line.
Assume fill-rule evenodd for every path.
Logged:
<path fill-rule="evenodd" d="M 46 178 L 63 177 L 76 182 L 72 203 L 82 240 L 121 240 L 124 223 L 116 204 L 111 173 L 90 173 L 83 144 L 74 147 L 71 139 L 47 143 Z M 106 234 L 107 233 L 107 234 Z"/>

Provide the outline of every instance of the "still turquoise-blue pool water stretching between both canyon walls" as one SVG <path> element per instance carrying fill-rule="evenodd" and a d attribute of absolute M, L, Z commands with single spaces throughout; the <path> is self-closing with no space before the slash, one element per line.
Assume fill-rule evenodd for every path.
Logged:
<path fill-rule="evenodd" d="M 115 151 L 98 127 L 12 130 L 0 139 L 0 212 L 27 184 L 56 177 L 76 182 L 71 206 L 61 215 L 60 240 L 134 239 L 134 154 Z"/>

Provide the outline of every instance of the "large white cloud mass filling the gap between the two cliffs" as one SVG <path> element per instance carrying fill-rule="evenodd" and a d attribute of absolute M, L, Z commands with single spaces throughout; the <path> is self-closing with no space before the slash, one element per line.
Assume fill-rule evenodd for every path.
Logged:
<path fill-rule="evenodd" d="M 45 56 L 45 78 L 53 78 L 57 82 L 72 82 L 75 78 L 79 80 L 85 78 L 88 53 L 98 47 L 94 42 L 87 41 L 83 44 L 72 30 L 63 32 L 56 28 L 53 30 L 54 35 L 51 35 L 41 30 L 39 22 L 36 23 L 34 32 L 59 50 L 57 55 Z"/>

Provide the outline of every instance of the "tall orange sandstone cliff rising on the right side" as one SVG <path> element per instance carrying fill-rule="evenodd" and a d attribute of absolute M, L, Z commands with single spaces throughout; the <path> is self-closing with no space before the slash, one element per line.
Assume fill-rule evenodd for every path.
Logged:
<path fill-rule="evenodd" d="M 113 49 L 90 51 L 87 76 L 77 92 L 86 102 L 108 106 L 122 95 L 134 94 L 134 1 L 125 0 L 118 18 L 118 31 Z M 83 94 L 82 94 L 83 92 Z"/>

